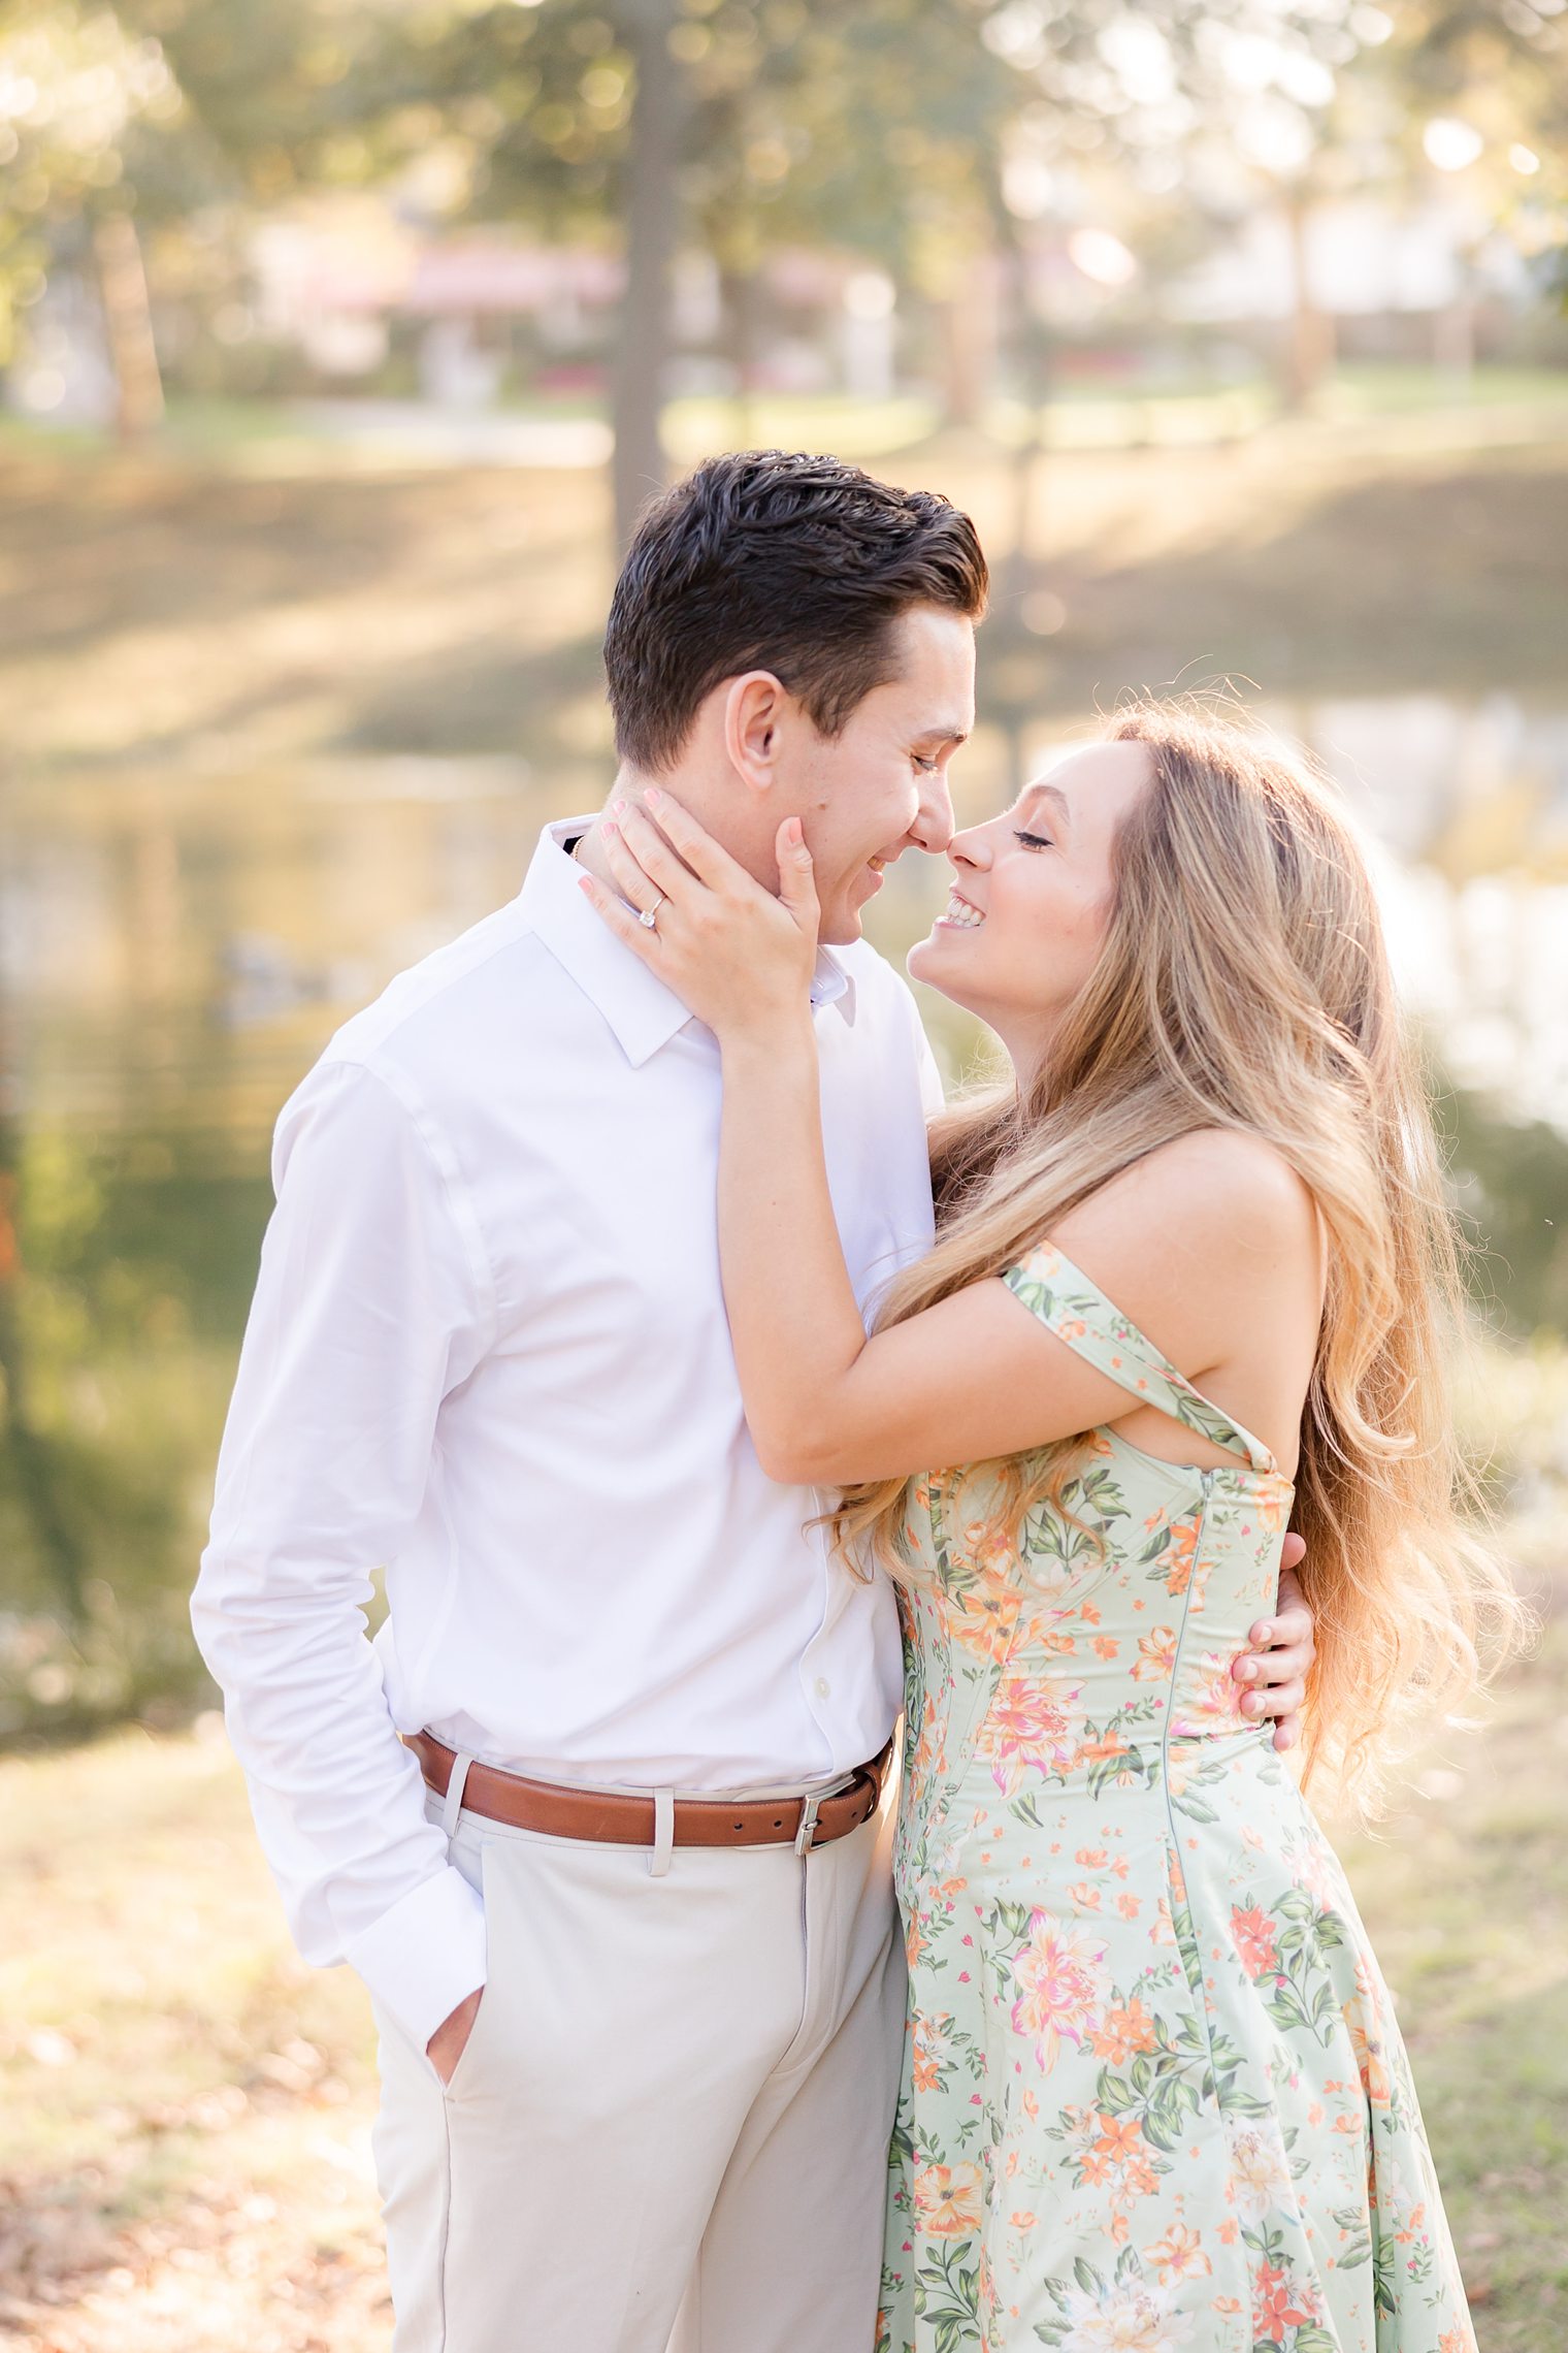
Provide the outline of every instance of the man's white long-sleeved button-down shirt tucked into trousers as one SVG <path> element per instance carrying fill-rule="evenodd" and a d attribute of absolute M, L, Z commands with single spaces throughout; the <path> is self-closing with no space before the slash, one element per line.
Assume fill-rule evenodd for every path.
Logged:
<path fill-rule="evenodd" d="M 301 1951 L 353 1962 L 416 2045 L 484 1981 L 484 1918 L 400 1729 L 552 1781 L 729 1791 L 842 1774 L 898 1711 L 889 1588 L 752 1452 L 717 1045 L 583 899 L 585 824 L 284 1106 L 193 1602 Z M 870 1304 L 931 1240 L 940 1089 L 872 948 L 825 953 L 813 1000 Z"/>

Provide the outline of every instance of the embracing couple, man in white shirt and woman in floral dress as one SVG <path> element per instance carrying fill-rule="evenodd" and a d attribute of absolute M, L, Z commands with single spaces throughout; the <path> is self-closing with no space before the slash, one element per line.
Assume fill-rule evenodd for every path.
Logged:
<path fill-rule="evenodd" d="M 397 2353 L 1474 2348 L 1279 1755 L 1476 1607 L 1371 887 L 1159 708 L 954 831 L 983 607 L 938 496 L 698 468 L 611 805 L 282 1113 L 195 1626 L 374 1995 Z"/>

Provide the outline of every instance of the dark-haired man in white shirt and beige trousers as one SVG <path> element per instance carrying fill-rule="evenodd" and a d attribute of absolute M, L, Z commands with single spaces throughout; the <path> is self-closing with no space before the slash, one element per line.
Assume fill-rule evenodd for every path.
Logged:
<path fill-rule="evenodd" d="M 804 821 L 863 1304 L 929 1245 L 938 1089 L 860 911 L 952 831 L 983 602 L 945 499 L 769 452 L 658 501 L 611 605 L 616 795 L 658 776 L 769 885 Z M 607 875 L 592 819 L 282 1113 L 195 1626 L 296 1939 L 374 1995 L 397 2353 L 858 2353 L 896 1614 L 757 1466 L 717 1047 L 574 859 Z M 1279 1631 L 1267 1713 L 1309 1657 Z"/>

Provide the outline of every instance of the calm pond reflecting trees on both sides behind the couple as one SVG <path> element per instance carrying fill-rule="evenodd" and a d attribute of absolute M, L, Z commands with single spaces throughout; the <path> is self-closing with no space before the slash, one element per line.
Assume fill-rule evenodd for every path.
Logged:
<path fill-rule="evenodd" d="M 1326 696 L 1265 715 L 1373 845 L 1455 1089 L 1495 1313 L 1568 1325 L 1568 706 Z M 959 802 L 980 814 L 1009 762 L 985 729 L 966 758 Z M 341 1019 L 510 896 L 538 828 L 604 781 L 320 758 L 31 779 L 0 800 L 0 1732 L 190 1687 L 183 1595 L 277 1106 Z M 924 934 L 943 871 L 891 873 L 886 953 Z M 973 1033 L 933 1000 L 929 1016 L 957 1068 Z"/>

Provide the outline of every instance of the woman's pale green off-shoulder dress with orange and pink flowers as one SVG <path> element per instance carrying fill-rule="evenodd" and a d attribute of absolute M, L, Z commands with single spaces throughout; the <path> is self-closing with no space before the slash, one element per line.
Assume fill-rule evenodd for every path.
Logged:
<path fill-rule="evenodd" d="M 1060 1252 L 1004 1280 L 1234 1461 L 1100 1428 L 1011 1541 L 912 1487 L 877 2348 L 1474 2353 L 1387 1988 L 1229 1673 L 1291 1485 Z"/>

